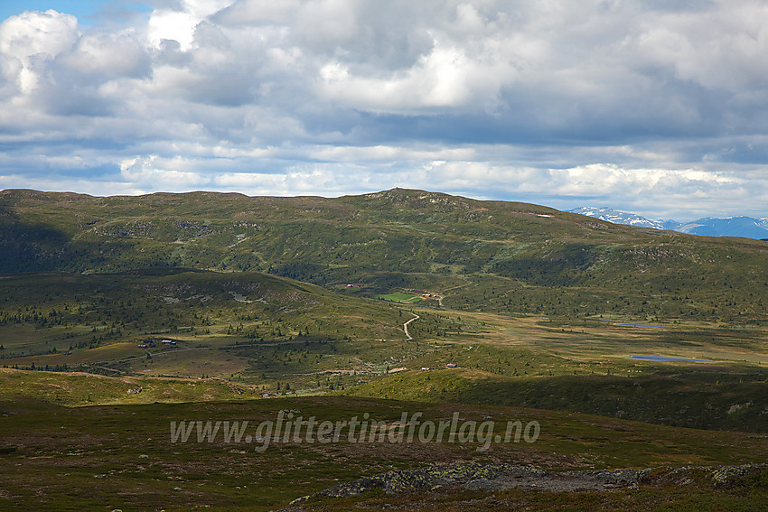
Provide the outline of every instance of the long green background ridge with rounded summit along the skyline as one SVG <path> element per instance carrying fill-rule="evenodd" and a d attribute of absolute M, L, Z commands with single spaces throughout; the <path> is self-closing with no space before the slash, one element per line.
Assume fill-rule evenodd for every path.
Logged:
<path fill-rule="evenodd" d="M 446 307 L 763 322 L 768 244 L 618 226 L 524 203 L 394 189 L 271 198 L 0 192 L 0 271 L 258 270 Z"/>

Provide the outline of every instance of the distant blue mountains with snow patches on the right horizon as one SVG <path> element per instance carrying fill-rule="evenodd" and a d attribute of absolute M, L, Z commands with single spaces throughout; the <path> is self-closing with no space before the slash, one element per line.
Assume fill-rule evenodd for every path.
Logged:
<path fill-rule="evenodd" d="M 613 224 L 626 224 L 640 228 L 672 229 L 680 233 L 703 237 L 768 238 L 768 219 L 754 219 L 752 217 L 726 217 L 725 219 L 719 219 L 716 217 L 705 217 L 692 222 L 678 222 L 677 220 L 648 219 L 641 215 L 610 208 L 586 206 L 568 211 L 613 222 Z"/>

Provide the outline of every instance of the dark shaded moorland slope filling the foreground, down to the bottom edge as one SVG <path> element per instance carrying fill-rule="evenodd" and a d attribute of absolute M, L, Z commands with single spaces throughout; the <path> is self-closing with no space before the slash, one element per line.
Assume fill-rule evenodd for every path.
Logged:
<path fill-rule="evenodd" d="M 6 372 L 0 370 L 0 389 Z M 26 386 L 36 376 L 15 375 L 13 384 Z M 58 377 L 58 376 L 53 376 Z M 56 384 L 68 386 L 63 379 Z M 90 377 L 101 386 L 125 387 L 121 380 Z M 187 395 L 191 385 L 186 386 Z M 199 386 L 202 387 L 202 386 Z M 210 390 L 208 388 L 207 390 Z M 204 400 L 201 399 L 201 400 Z M 348 422 L 370 415 L 371 420 L 394 425 L 403 413 L 423 416 L 422 424 L 440 422 L 460 412 L 462 421 L 482 423 L 492 418 L 492 431 L 505 433 L 508 422 L 537 421 L 537 442 L 304 442 L 292 438 L 259 449 L 258 429 L 275 422 L 281 412 L 293 411 L 304 419 Z M 96 405 L 65 408 L 34 402 L 0 400 L 0 479 L 3 510 L 762 510 L 768 489 L 763 466 L 768 447 L 763 439 L 745 433 L 682 430 L 584 414 L 534 409 L 462 405 L 425 405 L 394 400 L 299 397 L 238 402 L 199 401 L 187 404 Z M 410 417 L 410 416 L 409 416 Z M 169 426 L 192 425 L 187 442 L 176 438 Z M 196 422 L 200 422 L 197 429 Z M 225 439 L 225 422 L 241 432 Z M 205 424 L 220 424 L 206 433 Z M 173 426 L 171 426 L 173 428 Z M 195 432 L 192 432 L 195 431 Z M 229 431 L 231 433 L 231 431 Z M 169 435 L 170 433 L 170 435 Z M 245 434 L 245 435 L 243 435 Z M 536 489 L 455 489 L 440 482 L 426 489 L 408 489 L 425 479 L 408 478 L 408 470 L 440 470 L 464 463 L 466 476 L 490 483 L 489 464 L 519 466 L 520 470 L 589 471 L 609 473 L 613 468 L 657 468 L 641 472 L 647 478 L 632 489 L 624 486 L 579 488 L 574 492 Z M 711 468 L 721 464 L 754 463 L 753 473 Z M 435 468 L 437 466 L 437 468 Z M 710 468 L 701 468 L 709 466 Z M 666 467 L 666 469 L 664 469 Z M 681 468 L 683 467 L 683 468 Z M 460 477 L 461 468 L 451 471 Z M 443 468 L 445 474 L 448 468 Z M 716 470 L 719 479 L 713 479 Z M 719 470 L 719 471 L 717 471 Z M 361 478 L 375 479 L 385 471 L 398 471 L 398 492 L 384 493 L 376 486 L 360 489 Z M 484 473 L 484 474 L 483 474 Z M 615 474 L 632 474 L 619 470 Z M 646 474 L 648 473 L 648 474 Z M 483 477 L 485 477 L 483 479 Z M 426 480 L 429 481 L 429 480 Z M 520 483 L 524 480 L 518 479 Z M 722 485 L 725 481 L 729 485 Z M 351 482 L 351 483 L 347 483 Z M 532 483 L 532 482 L 525 482 Z M 615 482 L 614 482 L 615 483 Z M 357 485 L 356 485 L 357 484 Z M 353 489 L 325 493 L 324 489 Z M 380 486 L 379 486 L 380 487 Z M 430 492 L 430 489 L 432 491 Z M 418 492 L 401 492 L 418 490 Z M 365 492 L 370 491 L 370 492 Z M 297 498 L 321 493 L 306 503 Z M 331 498 L 340 496 L 342 498 Z M 346 498 L 344 498 L 346 497 Z M 302 500 L 304 501 L 304 500 Z"/>

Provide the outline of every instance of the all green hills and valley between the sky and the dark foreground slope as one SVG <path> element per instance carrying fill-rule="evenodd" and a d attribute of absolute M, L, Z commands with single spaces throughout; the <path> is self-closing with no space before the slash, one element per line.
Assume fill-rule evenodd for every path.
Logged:
<path fill-rule="evenodd" d="M 400 189 L 3 191 L 0 365 L 764 431 L 767 251 Z"/>

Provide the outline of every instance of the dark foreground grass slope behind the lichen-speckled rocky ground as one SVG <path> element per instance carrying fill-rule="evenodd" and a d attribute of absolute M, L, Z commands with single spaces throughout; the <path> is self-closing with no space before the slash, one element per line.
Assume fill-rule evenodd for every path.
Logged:
<path fill-rule="evenodd" d="M 115 380 L 90 378 L 98 379 L 103 386 Z M 476 451 L 476 443 L 361 445 L 342 438 L 341 442 L 328 444 L 275 444 L 259 453 L 247 442 L 224 443 L 221 436 L 215 442 L 196 442 L 193 433 L 192 442 L 170 441 L 172 421 L 248 420 L 248 433 L 253 433 L 259 422 L 274 421 L 280 410 L 332 422 L 346 421 L 354 415 L 362 417 L 365 413 L 392 422 L 404 411 L 422 412 L 422 421 L 441 421 L 459 412 L 464 420 L 481 422 L 492 418 L 499 433 L 508 420 L 536 420 L 541 424 L 541 434 L 537 442 L 492 444 L 489 451 Z M 509 407 L 425 405 L 360 398 L 306 397 L 74 409 L 23 401 L 0 403 L 0 414 L 0 460 L 4 467 L 0 506 L 4 510 L 192 510 L 208 506 L 212 510 L 237 507 L 256 511 L 286 505 L 294 498 L 340 481 L 431 463 L 508 462 L 569 470 L 760 462 L 768 456 L 763 439 L 742 433 L 681 430 L 584 414 Z M 696 489 L 699 490 L 698 484 Z M 632 491 L 629 499 L 634 505 L 646 502 L 670 506 L 691 499 L 690 486 L 682 489 L 688 497 L 670 490 L 667 498 L 660 500 L 659 489 L 641 488 Z M 739 489 L 717 491 L 709 484 L 700 490 L 700 497 L 707 498 L 715 507 L 756 507 L 760 503 L 755 501 L 759 497 L 745 497 Z M 449 496 L 451 500 L 461 498 L 454 494 L 445 498 Z M 592 496 L 593 500 L 613 499 L 611 492 Z M 486 497 L 483 492 L 464 495 Z M 519 497 L 527 498 L 533 509 L 551 507 L 548 503 L 553 499 L 553 495 L 535 491 Z M 389 499 L 402 502 L 417 497 Z M 335 509 L 348 505 L 349 500 L 332 504 Z M 444 503 L 442 507 L 416 509 L 448 506 Z"/>

